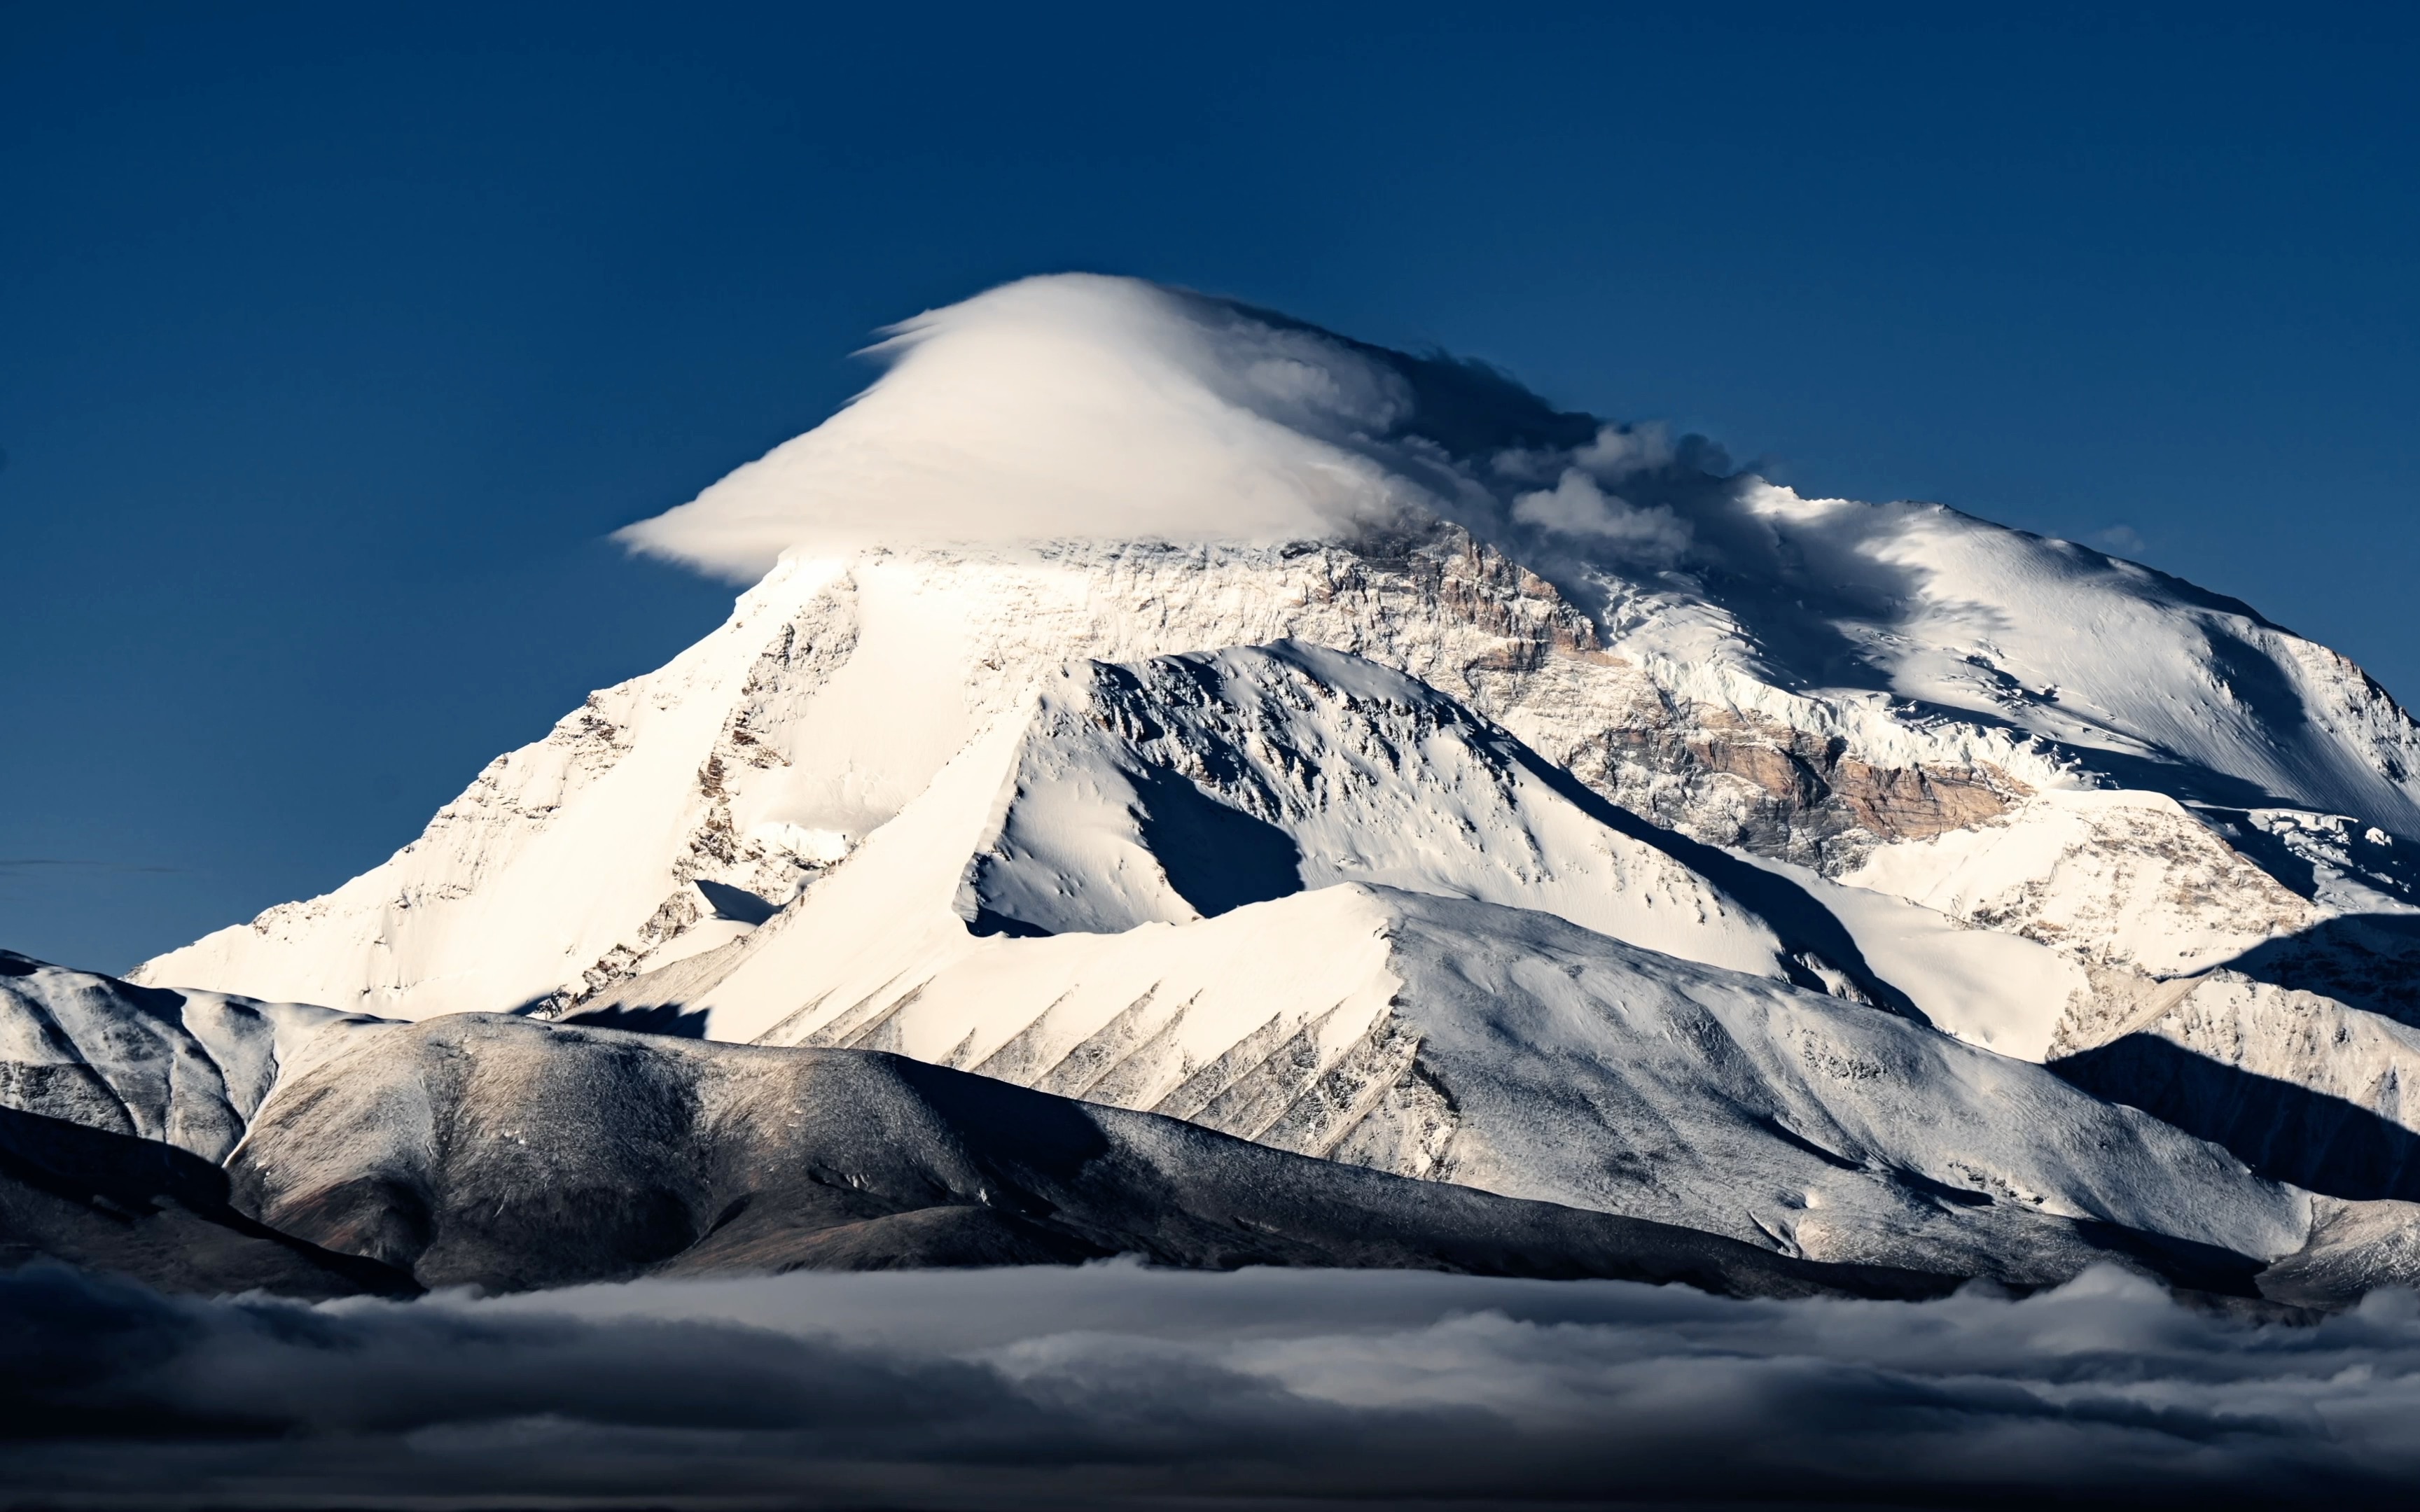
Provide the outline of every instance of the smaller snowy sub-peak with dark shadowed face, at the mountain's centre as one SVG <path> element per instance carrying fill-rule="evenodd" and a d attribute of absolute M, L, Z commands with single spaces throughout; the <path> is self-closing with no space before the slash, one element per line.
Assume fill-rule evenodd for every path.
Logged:
<path fill-rule="evenodd" d="M 1043 682 L 958 912 L 1118 934 L 1355 878 L 1786 975 L 1771 924 L 1558 777 L 1437 689 L 1300 641 L 1087 660 Z"/>

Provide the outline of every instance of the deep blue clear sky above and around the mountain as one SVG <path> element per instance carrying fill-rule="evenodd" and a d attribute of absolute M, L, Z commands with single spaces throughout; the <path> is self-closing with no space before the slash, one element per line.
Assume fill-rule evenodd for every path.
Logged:
<path fill-rule="evenodd" d="M 2122 527 L 2420 694 L 2413 12 L 1982 10 L 0 2 L 0 943 L 375 864 L 721 617 L 607 530 L 1058 269 Z"/>

